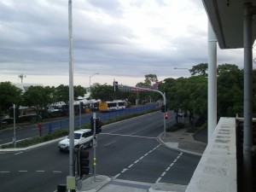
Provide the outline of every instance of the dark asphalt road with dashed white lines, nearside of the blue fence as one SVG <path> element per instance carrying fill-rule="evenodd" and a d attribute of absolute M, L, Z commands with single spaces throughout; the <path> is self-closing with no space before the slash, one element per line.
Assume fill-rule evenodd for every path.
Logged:
<path fill-rule="evenodd" d="M 103 127 L 96 148 L 96 174 L 147 183 L 188 184 L 200 157 L 166 148 L 157 141 L 163 114 L 150 113 Z M 169 114 L 168 124 L 174 123 Z M 51 143 L 22 153 L 0 154 L 0 191 L 55 191 L 66 183 L 69 155 Z M 90 175 L 93 176 L 90 151 Z"/>

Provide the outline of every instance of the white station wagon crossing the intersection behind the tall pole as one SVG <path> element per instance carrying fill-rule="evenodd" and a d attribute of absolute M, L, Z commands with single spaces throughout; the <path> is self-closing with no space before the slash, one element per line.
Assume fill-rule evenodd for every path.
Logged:
<path fill-rule="evenodd" d="M 79 148 L 79 146 L 83 145 L 84 147 L 92 147 L 93 146 L 93 136 L 90 129 L 83 129 L 74 131 L 74 147 Z M 65 139 L 61 140 L 58 143 L 58 148 L 61 151 L 69 150 L 69 136 Z"/>

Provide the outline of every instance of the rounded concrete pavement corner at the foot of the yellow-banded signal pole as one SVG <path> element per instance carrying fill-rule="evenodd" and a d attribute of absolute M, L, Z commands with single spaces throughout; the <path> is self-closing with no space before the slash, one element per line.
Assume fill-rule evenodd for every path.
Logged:
<path fill-rule="evenodd" d="M 111 181 L 110 177 L 97 175 L 78 183 L 78 192 L 96 192 Z"/>

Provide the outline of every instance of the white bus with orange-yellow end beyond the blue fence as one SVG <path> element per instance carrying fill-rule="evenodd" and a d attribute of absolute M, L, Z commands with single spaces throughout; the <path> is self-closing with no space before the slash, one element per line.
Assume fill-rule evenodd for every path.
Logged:
<path fill-rule="evenodd" d="M 99 102 L 99 111 L 111 112 L 126 108 L 126 102 L 122 100 L 113 100 L 113 102 Z"/>

